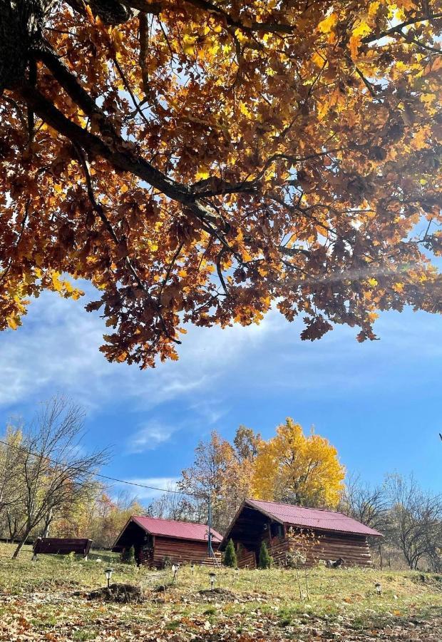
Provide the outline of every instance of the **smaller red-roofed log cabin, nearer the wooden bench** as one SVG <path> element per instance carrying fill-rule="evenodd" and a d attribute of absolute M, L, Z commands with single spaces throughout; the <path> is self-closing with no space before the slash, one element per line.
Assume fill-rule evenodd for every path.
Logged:
<path fill-rule="evenodd" d="M 212 549 L 217 551 L 222 536 L 214 529 Z M 210 564 L 207 553 L 208 527 L 189 521 L 131 516 L 113 544 L 121 553 L 133 546 L 137 564 L 162 568 L 170 564 Z"/>

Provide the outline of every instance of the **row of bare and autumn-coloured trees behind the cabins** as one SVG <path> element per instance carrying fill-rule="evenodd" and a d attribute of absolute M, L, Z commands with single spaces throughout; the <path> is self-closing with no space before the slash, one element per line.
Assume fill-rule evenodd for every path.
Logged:
<path fill-rule="evenodd" d="M 11 422 L 0 443 L 0 536 L 14 556 L 38 536 L 78 536 L 112 546 L 131 515 L 207 523 L 225 532 L 245 497 L 338 509 L 381 531 L 378 564 L 442 571 L 442 496 L 413 477 L 386 475 L 366 484 L 339 462 L 313 430 L 287 418 L 270 439 L 240 426 L 232 442 L 216 431 L 195 448 L 178 484 L 140 504 L 127 491 L 97 481 L 108 451 L 84 454 L 83 411 L 63 397 L 41 404 L 31 424 Z M 178 492 L 177 492 L 178 491 Z"/>

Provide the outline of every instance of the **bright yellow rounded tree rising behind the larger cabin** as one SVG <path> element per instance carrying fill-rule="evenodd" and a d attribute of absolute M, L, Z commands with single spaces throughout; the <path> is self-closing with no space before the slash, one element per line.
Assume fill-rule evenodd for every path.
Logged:
<path fill-rule="evenodd" d="M 259 444 L 253 488 L 259 499 L 336 507 L 345 469 L 338 452 L 319 434 L 305 435 L 288 417 L 276 435 Z"/>

